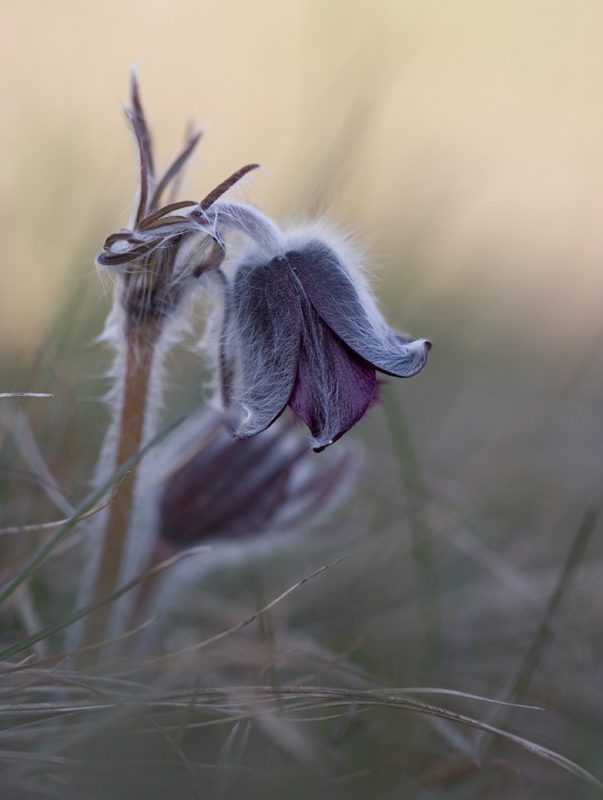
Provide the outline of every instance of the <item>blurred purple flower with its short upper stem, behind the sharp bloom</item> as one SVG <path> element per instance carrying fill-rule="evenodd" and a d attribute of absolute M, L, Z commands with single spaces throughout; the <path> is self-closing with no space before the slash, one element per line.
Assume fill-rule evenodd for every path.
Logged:
<path fill-rule="evenodd" d="M 170 442 L 164 450 L 149 565 L 210 543 L 212 555 L 192 566 L 197 582 L 224 557 L 239 553 L 247 561 L 266 535 L 283 541 L 282 534 L 320 524 L 354 486 L 361 452 L 342 447 L 317 458 L 296 427 L 294 415 L 285 415 L 268 430 L 241 439 L 233 437 L 223 413 L 206 410 L 188 420 L 176 449 Z M 166 580 L 169 585 L 169 575 Z M 148 618 L 157 597 L 157 581 L 145 583 L 131 624 Z"/>

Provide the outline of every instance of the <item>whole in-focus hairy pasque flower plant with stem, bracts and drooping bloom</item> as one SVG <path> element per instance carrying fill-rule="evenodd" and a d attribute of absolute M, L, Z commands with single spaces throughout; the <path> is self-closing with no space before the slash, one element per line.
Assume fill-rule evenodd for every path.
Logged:
<path fill-rule="evenodd" d="M 258 210 L 223 200 L 257 164 L 237 170 L 199 203 L 176 202 L 179 179 L 200 133 L 192 133 L 158 175 L 135 76 L 128 118 L 140 158 L 138 197 L 129 227 L 109 236 L 97 258 L 115 276 L 105 338 L 115 345 L 117 378 L 99 476 L 131 459 L 151 433 L 162 365 L 179 330 L 174 323 L 184 298 L 206 273 L 222 289 L 224 410 L 241 439 L 268 428 L 290 405 L 310 428 L 314 449 L 322 450 L 366 412 L 375 398 L 376 370 L 409 377 L 424 366 L 429 343 L 388 328 L 345 248 L 329 246 L 321 237 L 288 238 Z M 171 197 L 162 205 L 168 190 Z M 224 273 L 228 231 L 242 235 L 248 249 L 239 263 L 231 258 Z M 259 455 L 255 445 L 246 452 Z M 281 468 L 288 469 L 286 461 Z M 110 594 L 144 559 L 143 539 L 129 535 L 136 479 L 132 470 L 107 509 L 102 542 L 91 551 L 83 583 L 86 600 Z M 279 485 L 275 473 L 262 489 L 265 497 Z M 259 513 L 259 506 L 254 508 Z M 204 510 L 210 520 L 211 508 Z M 250 527 L 249 518 L 245 525 Z M 106 605 L 87 618 L 84 644 L 117 630 L 112 613 Z M 118 618 L 121 612 L 113 613 L 113 620 Z"/>

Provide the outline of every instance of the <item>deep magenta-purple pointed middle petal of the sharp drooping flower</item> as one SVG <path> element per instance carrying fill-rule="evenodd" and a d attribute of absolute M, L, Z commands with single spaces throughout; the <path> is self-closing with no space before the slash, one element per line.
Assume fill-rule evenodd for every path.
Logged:
<path fill-rule="evenodd" d="M 352 352 L 305 300 L 297 378 L 289 405 L 306 423 L 316 452 L 339 439 L 369 407 L 375 370 Z"/>

